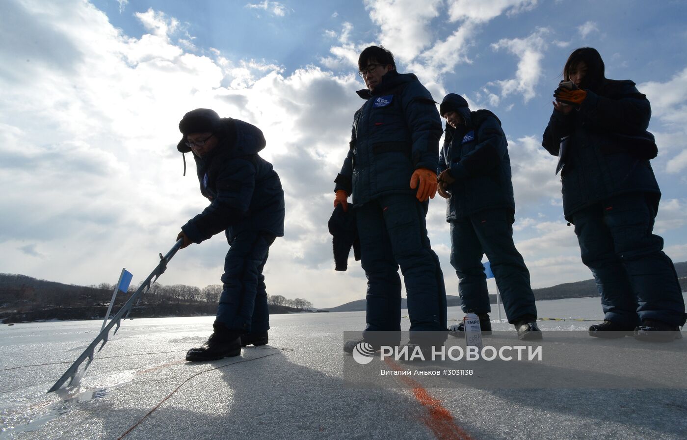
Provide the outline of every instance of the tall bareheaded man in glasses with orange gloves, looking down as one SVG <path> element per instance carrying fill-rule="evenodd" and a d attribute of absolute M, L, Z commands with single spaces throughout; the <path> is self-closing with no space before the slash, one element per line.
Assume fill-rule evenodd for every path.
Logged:
<path fill-rule="evenodd" d="M 396 71 L 390 51 L 370 46 L 358 65 L 368 89 L 358 91 L 365 104 L 354 115 L 334 205 L 349 209 L 352 194 L 368 278 L 364 338 L 379 346 L 375 332 L 401 330 L 401 266 L 411 342 L 421 348 L 442 344 L 446 291 L 425 225 L 429 198 L 436 194 L 441 119 L 429 91 L 412 73 Z"/>

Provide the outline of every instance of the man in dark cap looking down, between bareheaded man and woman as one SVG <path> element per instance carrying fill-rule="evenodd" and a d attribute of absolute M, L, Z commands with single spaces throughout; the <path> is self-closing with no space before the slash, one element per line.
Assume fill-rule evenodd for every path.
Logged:
<path fill-rule="evenodd" d="M 462 310 L 477 314 L 482 331 L 491 331 L 482 265 L 486 253 L 508 322 L 519 338 L 539 339 L 530 273 L 513 243 L 515 200 L 501 121 L 491 111 L 471 112 L 455 93 L 444 97 L 439 111 L 447 119 L 437 168 L 439 194 L 448 199 L 451 265 L 458 274 Z M 462 332 L 462 324 L 455 330 Z"/>

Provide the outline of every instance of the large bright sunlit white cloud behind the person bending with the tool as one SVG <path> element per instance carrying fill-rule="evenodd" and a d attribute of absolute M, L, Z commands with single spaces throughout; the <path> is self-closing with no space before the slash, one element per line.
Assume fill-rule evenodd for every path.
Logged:
<path fill-rule="evenodd" d="M 262 128 L 267 148 L 261 154 L 282 177 L 288 236 L 271 251 L 270 294 L 315 295 L 319 286 L 328 293 L 308 299 L 322 306 L 342 302 L 342 291 L 326 287 L 333 272 L 326 221 L 333 177 L 361 104 L 357 77 L 313 66 L 284 76 L 269 62 L 229 60 L 217 50 L 196 55 L 170 38 L 179 21 L 155 10 L 137 15 L 147 30 L 141 38 L 123 34 L 81 1 L 52 15 L 19 10 L 14 16 L 25 20 L 15 31 L 16 44 L 24 46 L 0 46 L 5 62 L 25 63 L 24 47 L 36 29 L 52 30 L 63 56 L 34 51 L 22 76 L 0 76 L 4 271 L 85 284 L 113 282 L 122 266 L 135 279 L 146 276 L 179 227 L 207 205 L 193 161 L 187 154 L 183 178 L 175 148 L 179 119 L 205 107 Z M 71 17 L 68 26 L 63 16 Z M 0 18 L 0 24 L 7 23 Z M 322 102 L 337 106 L 322 108 Z M 16 145 L 23 148 L 10 148 Z M 226 251 L 221 235 L 190 246 L 162 281 L 216 283 Z M 361 269 L 351 273 L 341 277 L 341 288 L 364 292 Z"/>

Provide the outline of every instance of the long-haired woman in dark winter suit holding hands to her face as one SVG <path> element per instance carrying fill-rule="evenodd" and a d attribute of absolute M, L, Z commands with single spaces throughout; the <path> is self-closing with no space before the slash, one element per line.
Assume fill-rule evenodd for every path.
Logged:
<path fill-rule="evenodd" d="M 560 157 L 563 213 L 575 225 L 605 313 L 589 335 L 680 337 L 684 299 L 663 239 L 652 233 L 661 192 L 649 164 L 657 154 L 646 131 L 649 101 L 634 82 L 605 78 L 591 47 L 567 58 L 554 97 L 542 145 Z"/>

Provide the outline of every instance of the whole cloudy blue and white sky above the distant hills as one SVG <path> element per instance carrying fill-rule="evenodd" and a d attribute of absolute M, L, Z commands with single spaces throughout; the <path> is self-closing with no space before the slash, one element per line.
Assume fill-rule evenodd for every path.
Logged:
<path fill-rule="evenodd" d="M 460 93 L 502 120 L 534 287 L 591 277 L 540 144 L 567 56 L 596 47 L 608 78 L 651 101 L 656 231 L 687 260 L 686 14 L 684 1 L 640 0 L 3 0 L 0 272 L 89 285 L 126 267 L 144 279 L 207 204 L 175 148 L 179 119 L 207 107 L 260 127 L 282 178 L 286 236 L 271 248 L 268 293 L 322 308 L 364 298 L 359 264 L 333 270 L 326 222 L 363 104 L 357 56 L 371 44 L 435 100 Z M 431 242 L 457 294 L 444 219 L 432 200 Z M 223 235 L 192 245 L 160 282 L 219 283 L 226 251 Z"/>

